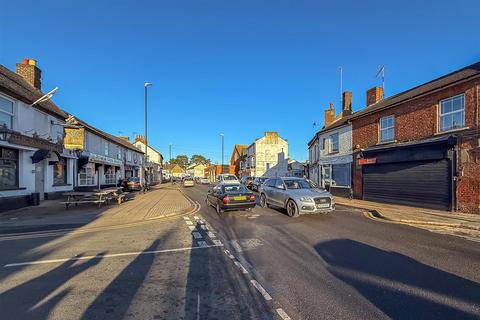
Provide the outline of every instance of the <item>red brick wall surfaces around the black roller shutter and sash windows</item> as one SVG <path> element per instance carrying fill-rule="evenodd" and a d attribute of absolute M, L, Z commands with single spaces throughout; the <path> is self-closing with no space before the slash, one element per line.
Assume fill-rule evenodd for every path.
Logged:
<path fill-rule="evenodd" d="M 476 80 L 480 83 L 480 80 Z M 478 92 L 477 86 L 477 92 Z M 475 119 L 475 82 L 474 80 L 459 84 L 438 92 L 404 102 L 393 108 L 379 111 L 371 115 L 352 120 L 354 149 L 358 146 L 365 149 L 378 144 L 379 142 L 379 121 L 380 118 L 388 115 L 395 115 L 395 139 L 398 142 L 407 142 L 412 140 L 421 140 L 434 136 L 438 132 L 438 105 L 440 100 L 455 95 L 465 94 L 465 124 L 467 127 L 476 127 Z M 480 104 L 479 94 L 477 93 L 477 103 Z M 461 133 L 459 133 L 461 134 Z M 460 145 L 460 149 L 470 148 L 478 150 L 478 145 L 473 146 L 472 143 Z M 477 151 L 470 151 L 477 152 Z M 478 153 L 477 153 L 478 154 Z M 462 164 L 464 176 L 457 184 L 457 203 L 462 211 L 473 212 L 467 208 L 475 207 L 478 209 L 478 172 L 480 171 L 478 158 L 477 162 L 469 157 Z M 460 169 L 460 168 L 459 168 Z M 354 170 L 354 195 L 357 198 L 362 197 L 362 178 L 361 170 Z M 475 189 L 477 188 L 477 189 Z M 470 190 L 470 191 L 468 191 Z M 476 191 L 475 191 L 476 190 Z M 475 194 L 476 192 L 476 194 Z M 475 200 L 476 199 L 476 200 Z"/>

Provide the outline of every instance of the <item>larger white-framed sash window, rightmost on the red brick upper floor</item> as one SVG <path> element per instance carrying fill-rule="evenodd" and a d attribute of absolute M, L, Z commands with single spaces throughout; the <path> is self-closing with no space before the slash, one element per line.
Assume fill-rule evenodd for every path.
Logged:
<path fill-rule="evenodd" d="M 465 126 L 465 97 L 459 95 L 440 101 L 440 132 Z"/>

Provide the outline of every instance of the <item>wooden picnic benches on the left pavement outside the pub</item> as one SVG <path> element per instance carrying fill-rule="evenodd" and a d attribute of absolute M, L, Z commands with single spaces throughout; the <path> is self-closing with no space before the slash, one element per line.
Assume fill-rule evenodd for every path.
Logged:
<path fill-rule="evenodd" d="M 102 204 L 108 204 L 112 200 L 121 204 L 127 199 L 128 194 L 129 192 L 123 192 L 121 188 L 94 189 L 92 192 L 66 192 L 63 195 L 67 200 L 61 203 L 65 204 L 66 209 L 72 204 L 78 206 L 79 203 L 94 203 L 101 207 Z"/>

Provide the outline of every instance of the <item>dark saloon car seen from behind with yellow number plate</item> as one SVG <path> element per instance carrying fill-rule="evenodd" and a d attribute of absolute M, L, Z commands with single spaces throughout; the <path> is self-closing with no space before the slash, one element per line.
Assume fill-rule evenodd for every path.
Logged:
<path fill-rule="evenodd" d="M 252 210 L 255 195 L 243 184 L 221 183 L 208 190 L 206 203 L 213 206 L 218 214 L 225 211 Z"/>

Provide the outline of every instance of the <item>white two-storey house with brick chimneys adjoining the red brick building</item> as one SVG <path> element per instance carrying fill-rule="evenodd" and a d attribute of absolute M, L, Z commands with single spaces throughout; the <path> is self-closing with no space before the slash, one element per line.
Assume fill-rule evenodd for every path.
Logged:
<path fill-rule="evenodd" d="M 330 104 L 324 127 L 308 143 L 310 179 L 335 195 L 348 196 L 352 186 L 352 117 L 352 94 L 346 91 L 339 115 Z"/>

